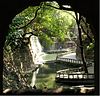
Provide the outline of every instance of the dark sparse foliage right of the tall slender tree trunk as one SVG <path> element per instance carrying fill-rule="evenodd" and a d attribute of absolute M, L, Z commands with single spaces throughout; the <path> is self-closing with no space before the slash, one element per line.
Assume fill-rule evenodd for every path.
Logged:
<path fill-rule="evenodd" d="M 82 41 L 83 48 L 86 59 L 94 59 L 94 35 L 92 34 L 92 30 L 90 29 L 90 25 L 86 22 L 86 18 L 82 17 L 80 22 L 83 27 L 82 30 Z"/>

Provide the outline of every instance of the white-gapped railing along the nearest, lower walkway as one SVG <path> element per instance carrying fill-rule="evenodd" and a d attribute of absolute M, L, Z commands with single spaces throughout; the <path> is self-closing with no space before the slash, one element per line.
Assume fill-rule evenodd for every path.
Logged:
<path fill-rule="evenodd" d="M 65 74 L 65 73 L 57 73 L 56 78 L 64 78 L 64 79 L 94 79 L 94 74 Z"/>

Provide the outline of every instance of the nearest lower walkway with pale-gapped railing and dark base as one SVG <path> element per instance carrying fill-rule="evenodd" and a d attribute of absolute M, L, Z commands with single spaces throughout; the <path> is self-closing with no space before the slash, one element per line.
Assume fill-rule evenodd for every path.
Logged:
<path fill-rule="evenodd" d="M 79 69 L 59 70 L 56 73 L 56 83 L 64 83 L 67 85 L 91 85 L 94 84 L 94 74 L 86 74 L 84 71 L 79 72 Z"/>

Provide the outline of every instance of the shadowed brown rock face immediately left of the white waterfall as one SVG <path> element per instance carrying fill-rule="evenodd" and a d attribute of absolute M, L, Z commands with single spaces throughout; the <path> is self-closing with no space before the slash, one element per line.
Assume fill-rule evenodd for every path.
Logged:
<path fill-rule="evenodd" d="M 23 72 L 31 68 L 33 60 L 28 46 L 21 46 L 13 52 L 13 62 L 16 66 L 20 66 Z"/>

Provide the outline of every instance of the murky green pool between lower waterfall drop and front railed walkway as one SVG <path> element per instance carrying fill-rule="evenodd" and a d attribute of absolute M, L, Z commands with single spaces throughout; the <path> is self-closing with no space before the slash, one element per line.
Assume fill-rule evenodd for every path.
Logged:
<path fill-rule="evenodd" d="M 69 68 L 66 64 L 44 64 L 37 74 L 37 88 L 57 88 L 59 85 L 55 83 L 56 71 Z"/>

